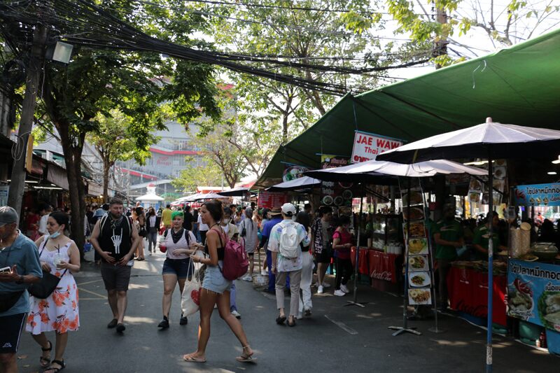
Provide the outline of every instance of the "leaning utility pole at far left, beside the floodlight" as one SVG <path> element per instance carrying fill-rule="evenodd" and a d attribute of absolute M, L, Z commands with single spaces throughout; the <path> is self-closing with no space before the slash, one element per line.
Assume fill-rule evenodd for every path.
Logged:
<path fill-rule="evenodd" d="M 33 45 L 27 65 L 27 78 L 25 79 L 25 97 L 22 104 L 20 127 L 18 129 L 18 154 L 13 160 L 12 178 L 10 191 L 8 192 L 8 206 L 20 213 L 22 208 L 23 190 L 25 188 L 25 162 L 27 142 L 31 129 L 35 106 L 37 104 L 37 90 L 41 78 L 41 65 L 44 59 L 45 42 L 47 39 L 47 28 L 38 24 L 33 32 Z"/>

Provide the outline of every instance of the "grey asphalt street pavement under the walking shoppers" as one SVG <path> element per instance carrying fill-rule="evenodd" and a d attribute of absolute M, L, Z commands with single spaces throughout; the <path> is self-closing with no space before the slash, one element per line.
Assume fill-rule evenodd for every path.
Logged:
<path fill-rule="evenodd" d="M 367 302 L 365 308 L 344 307 L 351 295 L 314 294 L 311 318 L 289 328 L 274 322 L 274 295 L 244 281 L 236 283 L 237 306 L 256 362 L 235 360 L 241 346 L 217 310 L 212 315 L 207 363 L 183 362 L 183 354 L 196 349 L 199 318 L 195 314 L 188 325 L 179 325 L 176 288 L 171 327 L 158 330 L 164 259 L 158 253 L 135 263 L 123 335 L 106 328 L 112 316 L 103 281 L 96 266 L 83 264 L 83 271 L 76 274 L 80 330 L 70 333 L 64 372 L 484 372 L 486 332 L 459 318 L 442 316 L 441 334 L 428 331 L 433 321 L 415 321 L 409 325 L 422 335 L 392 337 L 388 326 L 402 325 L 402 297 L 359 286 L 358 300 Z M 48 337 L 54 342 L 52 332 Z M 40 352 L 24 332 L 18 351 L 20 372 L 41 372 Z M 493 360 L 494 372 L 560 371 L 559 358 L 510 337 L 494 338 Z"/>

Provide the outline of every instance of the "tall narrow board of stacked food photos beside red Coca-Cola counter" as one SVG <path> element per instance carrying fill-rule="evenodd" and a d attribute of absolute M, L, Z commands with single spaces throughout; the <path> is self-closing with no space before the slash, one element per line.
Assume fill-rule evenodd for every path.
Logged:
<path fill-rule="evenodd" d="M 421 188 L 401 192 L 402 216 L 407 243 L 408 304 L 432 304 L 430 246 L 426 236 L 426 200 Z"/>

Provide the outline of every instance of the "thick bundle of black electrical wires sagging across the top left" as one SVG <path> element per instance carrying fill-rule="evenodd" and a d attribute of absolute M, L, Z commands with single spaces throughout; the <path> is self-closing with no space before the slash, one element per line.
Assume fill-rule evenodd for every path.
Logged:
<path fill-rule="evenodd" d="M 301 71 L 363 74 L 414 66 L 428 61 L 428 58 L 422 58 L 396 66 L 352 68 L 294 62 L 290 59 L 275 56 L 197 50 L 149 36 L 131 24 L 120 20 L 109 11 L 86 0 L 3 1 L 0 3 L 0 20 L 2 20 L 0 32 L 13 50 L 29 49 L 34 27 L 43 24 L 50 29 L 51 36 L 55 34 L 61 40 L 73 45 L 93 49 L 158 52 L 178 59 L 223 66 L 239 73 L 248 73 L 307 90 L 317 90 L 335 95 L 346 93 L 346 87 L 312 78 L 276 73 L 268 71 L 262 66 L 273 64 L 274 66 L 286 66 Z"/>

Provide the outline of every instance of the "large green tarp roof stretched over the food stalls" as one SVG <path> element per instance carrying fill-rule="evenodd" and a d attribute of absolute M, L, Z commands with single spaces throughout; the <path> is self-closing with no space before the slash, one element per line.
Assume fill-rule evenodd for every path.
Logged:
<path fill-rule="evenodd" d="M 496 122 L 560 129 L 560 29 L 490 55 L 352 96 L 281 147 L 255 186 L 285 164 L 319 168 L 320 153 L 351 155 L 356 129 L 416 141 Z"/>

